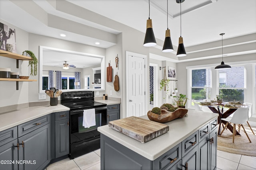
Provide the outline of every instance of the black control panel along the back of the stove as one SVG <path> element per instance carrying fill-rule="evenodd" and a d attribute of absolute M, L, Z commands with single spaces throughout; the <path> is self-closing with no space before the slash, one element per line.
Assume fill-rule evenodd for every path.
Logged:
<path fill-rule="evenodd" d="M 61 95 L 61 99 L 72 99 L 72 98 L 94 98 L 93 91 L 82 91 L 82 92 L 64 92 Z"/>

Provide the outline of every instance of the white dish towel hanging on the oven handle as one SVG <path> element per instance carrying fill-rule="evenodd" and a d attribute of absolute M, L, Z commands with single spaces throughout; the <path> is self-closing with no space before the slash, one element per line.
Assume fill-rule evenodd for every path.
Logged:
<path fill-rule="evenodd" d="M 83 116 L 83 126 L 84 128 L 89 128 L 91 126 L 95 126 L 95 109 L 86 109 L 84 110 Z"/>

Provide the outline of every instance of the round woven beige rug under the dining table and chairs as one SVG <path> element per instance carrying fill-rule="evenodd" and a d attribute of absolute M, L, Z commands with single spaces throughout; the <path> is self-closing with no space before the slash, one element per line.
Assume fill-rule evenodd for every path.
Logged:
<path fill-rule="evenodd" d="M 249 142 L 246 134 L 241 129 L 241 135 L 236 135 L 235 141 L 232 143 L 233 134 L 229 130 L 224 130 L 221 136 L 218 135 L 217 149 L 234 154 L 256 156 L 256 135 L 250 134 L 247 130 L 246 132 L 252 143 Z"/>

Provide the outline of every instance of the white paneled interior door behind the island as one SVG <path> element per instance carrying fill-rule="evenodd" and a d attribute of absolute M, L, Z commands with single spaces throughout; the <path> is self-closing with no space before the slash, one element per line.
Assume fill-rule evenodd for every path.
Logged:
<path fill-rule="evenodd" d="M 127 113 L 126 117 L 146 115 L 145 61 L 144 55 L 127 55 Z"/>

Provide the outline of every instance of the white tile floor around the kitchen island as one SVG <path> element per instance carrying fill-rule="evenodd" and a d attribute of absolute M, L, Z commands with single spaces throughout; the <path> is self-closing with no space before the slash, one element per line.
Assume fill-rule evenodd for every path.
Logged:
<path fill-rule="evenodd" d="M 252 129 L 256 131 L 256 127 Z M 248 133 L 252 133 L 249 130 L 246 128 Z M 46 170 L 100 170 L 100 149 L 72 160 L 66 158 L 55 162 Z M 217 150 L 217 170 L 256 170 L 256 157 Z"/>

